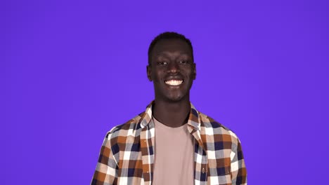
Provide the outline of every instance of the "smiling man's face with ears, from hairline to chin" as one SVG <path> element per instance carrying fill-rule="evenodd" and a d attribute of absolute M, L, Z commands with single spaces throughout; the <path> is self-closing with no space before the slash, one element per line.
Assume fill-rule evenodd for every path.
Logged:
<path fill-rule="evenodd" d="M 147 74 L 154 84 L 155 99 L 167 102 L 189 100 L 196 72 L 188 43 L 181 39 L 160 40 L 150 55 Z"/>

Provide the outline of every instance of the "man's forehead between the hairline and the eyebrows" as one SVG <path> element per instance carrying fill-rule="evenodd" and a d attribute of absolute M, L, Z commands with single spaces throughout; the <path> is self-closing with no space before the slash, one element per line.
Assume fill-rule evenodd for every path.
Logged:
<path fill-rule="evenodd" d="M 188 43 L 181 39 L 162 39 L 155 44 L 152 55 L 160 55 L 161 53 L 184 53 L 192 55 L 192 50 Z"/>

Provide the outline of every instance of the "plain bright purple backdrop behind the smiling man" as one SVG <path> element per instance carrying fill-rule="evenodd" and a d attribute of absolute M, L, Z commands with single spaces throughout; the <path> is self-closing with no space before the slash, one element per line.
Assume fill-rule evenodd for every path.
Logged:
<path fill-rule="evenodd" d="M 154 36 L 191 39 L 191 101 L 237 133 L 249 184 L 328 182 L 328 1 L 1 1 L 1 184 L 89 184 L 153 100 Z"/>

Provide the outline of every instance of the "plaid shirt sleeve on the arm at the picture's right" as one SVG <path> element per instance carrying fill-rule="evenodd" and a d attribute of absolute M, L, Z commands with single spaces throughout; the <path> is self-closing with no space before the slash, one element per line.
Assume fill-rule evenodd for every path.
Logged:
<path fill-rule="evenodd" d="M 238 144 L 235 151 L 231 153 L 231 176 L 232 184 L 240 185 L 247 184 L 247 170 L 245 167 L 245 159 L 243 158 L 243 151 L 240 140 L 237 139 Z"/>

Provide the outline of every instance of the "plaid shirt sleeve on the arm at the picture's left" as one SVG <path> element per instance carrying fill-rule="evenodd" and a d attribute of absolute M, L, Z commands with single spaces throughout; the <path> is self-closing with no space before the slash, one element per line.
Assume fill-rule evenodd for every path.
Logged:
<path fill-rule="evenodd" d="M 111 134 L 108 133 L 104 139 L 96 170 L 91 181 L 92 185 L 117 184 L 118 166 L 111 149 L 110 136 Z"/>

